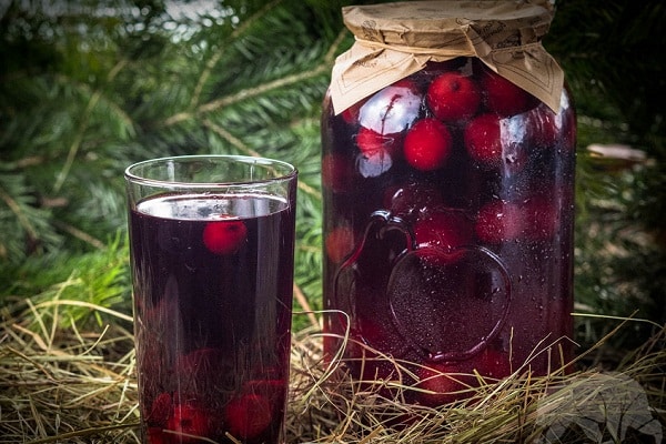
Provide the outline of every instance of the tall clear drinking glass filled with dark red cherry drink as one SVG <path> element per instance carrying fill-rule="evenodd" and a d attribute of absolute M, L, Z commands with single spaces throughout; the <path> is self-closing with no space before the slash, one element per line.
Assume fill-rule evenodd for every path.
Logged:
<path fill-rule="evenodd" d="M 232 155 L 125 170 L 144 443 L 282 442 L 296 178 Z"/>

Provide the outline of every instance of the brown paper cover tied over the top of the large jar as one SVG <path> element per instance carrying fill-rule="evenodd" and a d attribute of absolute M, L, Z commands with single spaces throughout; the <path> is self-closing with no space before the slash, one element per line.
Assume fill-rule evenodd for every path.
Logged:
<path fill-rule="evenodd" d="M 342 8 L 355 42 L 335 61 L 335 113 L 423 69 L 427 61 L 478 58 L 493 71 L 559 109 L 564 73 L 543 48 L 548 0 L 405 1 Z"/>

